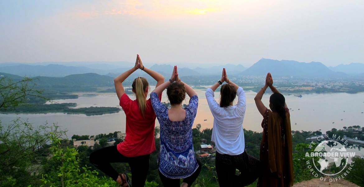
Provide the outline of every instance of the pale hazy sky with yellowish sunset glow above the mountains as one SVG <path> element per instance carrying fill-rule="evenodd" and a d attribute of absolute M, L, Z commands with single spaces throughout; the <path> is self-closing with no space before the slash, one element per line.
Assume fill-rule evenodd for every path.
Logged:
<path fill-rule="evenodd" d="M 0 1 L 0 62 L 364 63 L 363 0 Z"/>

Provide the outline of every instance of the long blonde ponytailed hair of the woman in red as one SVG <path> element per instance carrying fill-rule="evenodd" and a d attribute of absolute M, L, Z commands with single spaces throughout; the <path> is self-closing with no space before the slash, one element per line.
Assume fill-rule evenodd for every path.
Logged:
<path fill-rule="evenodd" d="M 138 77 L 134 79 L 131 87 L 135 93 L 135 96 L 137 97 L 139 110 L 142 113 L 143 117 L 145 114 L 145 111 L 147 109 L 147 100 L 145 98 L 144 91 L 149 86 L 149 83 L 146 78 Z"/>

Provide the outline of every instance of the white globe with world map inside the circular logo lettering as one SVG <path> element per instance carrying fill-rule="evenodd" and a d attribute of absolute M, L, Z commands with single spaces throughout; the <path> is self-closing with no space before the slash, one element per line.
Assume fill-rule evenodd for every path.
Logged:
<path fill-rule="evenodd" d="M 315 157 L 312 158 L 313 165 L 321 174 L 337 175 L 343 171 L 348 164 L 348 158 L 345 157 L 346 152 L 347 150 L 345 147 L 335 140 L 323 141 L 314 149 Z M 318 166 L 315 164 L 315 161 L 317 161 Z M 334 171 L 339 170 L 339 172 L 335 174 L 325 173 L 328 171 L 328 167 L 336 167 Z"/>

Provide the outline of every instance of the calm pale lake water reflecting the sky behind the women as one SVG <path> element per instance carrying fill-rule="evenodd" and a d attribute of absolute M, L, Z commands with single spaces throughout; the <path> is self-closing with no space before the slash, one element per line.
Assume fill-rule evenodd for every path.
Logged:
<path fill-rule="evenodd" d="M 151 88 L 154 89 L 153 87 Z M 199 96 L 199 106 L 194 125 L 201 124 L 202 129 L 212 128 L 213 117 L 207 105 L 205 90 L 197 89 Z M 77 99 L 56 100 L 56 102 L 75 102 L 76 108 L 89 106 L 119 106 L 119 100 L 115 93 L 76 93 Z M 84 94 L 96 94 L 86 95 Z M 261 132 L 262 116 L 258 112 L 254 97 L 256 93 L 246 92 L 246 114 L 243 126 L 245 129 Z M 347 94 L 303 94 L 303 97 L 286 95 L 286 102 L 290 110 L 292 130 L 320 130 L 325 133 L 332 128 L 342 128 L 343 126 L 361 125 L 364 114 L 364 93 Z M 130 98 L 135 99 L 134 96 Z M 219 93 L 215 92 L 215 99 L 218 101 Z M 168 102 L 166 93 L 163 93 L 162 102 Z M 235 101 L 236 102 L 236 101 Z M 269 94 L 265 94 L 263 102 L 269 104 Z M 188 104 L 188 97 L 185 104 Z M 345 112 L 344 112 L 345 111 Z M 99 116 L 86 116 L 84 114 L 0 114 L 3 124 L 21 117 L 28 119 L 33 124 L 44 124 L 56 122 L 63 128 L 68 129 L 68 137 L 74 134 L 95 135 L 99 133 L 109 133 L 114 131 L 125 131 L 125 114 L 123 111 L 114 114 L 104 114 Z M 343 120 L 341 120 L 343 119 Z M 206 121 L 205 121 L 206 120 Z M 335 122 L 335 123 L 333 123 Z M 156 125 L 158 120 L 156 120 Z"/>

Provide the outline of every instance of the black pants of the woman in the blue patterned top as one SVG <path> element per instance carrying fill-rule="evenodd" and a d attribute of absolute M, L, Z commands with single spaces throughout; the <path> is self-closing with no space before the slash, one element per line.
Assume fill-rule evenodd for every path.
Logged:
<path fill-rule="evenodd" d="M 190 175 L 190 176 L 183 179 L 183 182 L 187 183 L 188 187 L 190 187 L 192 185 L 192 183 L 195 182 L 198 175 L 200 174 L 202 164 L 201 164 L 201 162 L 199 160 L 197 160 L 197 164 L 198 164 L 197 170 L 192 175 Z M 167 178 L 166 176 L 164 176 L 161 173 L 161 171 L 159 171 L 159 178 L 161 178 L 163 186 L 165 186 L 165 187 L 179 187 L 179 186 L 181 186 L 181 184 L 179 183 L 180 179 Z"/>

